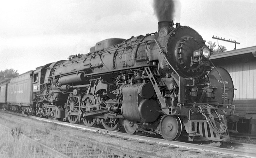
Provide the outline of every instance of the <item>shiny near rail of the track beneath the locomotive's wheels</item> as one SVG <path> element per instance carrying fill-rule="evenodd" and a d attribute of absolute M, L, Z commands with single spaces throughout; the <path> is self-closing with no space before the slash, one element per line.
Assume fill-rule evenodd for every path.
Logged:
<path fill-rule="evenodd" d="M 26 115 L 21 115 L 25 116 Z M 62 126 L 69 126 L 74 127 L 76 129 L 82 129 L 86 131 L 93 131 L 93 132 L 100 132 L 105 135 L 109 135 L 112 137 L 119 137 L 120 139 L 127 139 L 127 140 L 134 140 L 134 141 L 140 141 L 142 143 L 156 143 L 161 144 L 163 146 L 169 146 L 170 148 L 180 148 L 181 151 L 190 151 L 195 153 L 201 153 L 201 152 L 214 152 L 214 153 L 220 153 L 220 154 L 226 154 L 230 156 L 240 156 L 240 157 L 256 157 L 256 152 L 254 145 L 251 144 L 243 144 L 243 143 L 224 143 L 223 145 L 220 145 L 219 147 L 213 147 L 213 146 L 207 146 L 207 145 L 201 145 L 201 144 L 195 144 L 195 143 L 186 143 L 186 142 L 180 142 L 180 141 L 168 141 L 164 139 L 158 139 L 158 138 L 151 138 L 151 137 L 145 137 L 145 136 L 138 136 L 138 135 L 130 135 L 127 133 L 120 133 L 117 131 L 107 131 L 105 129 L 99 129 L 94 127 L 86 127 L 79 124 L 70 124 L 66 122 L 60 122 L 56 120 L 49 120 L 44 118 L 38 118 L 34 116 L 29 116 L 32 119 L 40 120 L 40 121 L 46 121 L 49 123 L 54 123 Z M 79 138 L 80 139 L 80 138 Z M 240 150 L 238 149 L 238 146 L 240 146 Z M 250 148 L 251 150 L 248 150 Z M 246 149 L 246 150 L 245 150 Z"/>

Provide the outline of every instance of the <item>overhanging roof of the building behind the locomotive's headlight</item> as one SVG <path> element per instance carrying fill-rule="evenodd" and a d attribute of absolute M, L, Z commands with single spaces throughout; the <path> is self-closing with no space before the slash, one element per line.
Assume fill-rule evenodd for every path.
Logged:
<path fill-rule="evenodd" d="M 211 55 L 210 59 L 219 59 L 219 58 L 227 58 L 235 55 L 241 55 L 241 54 L 247 54 L 247 53 L 252 53 L 254 57 L 256 57 L 256 46 L 252 47 L 247 47 L 247 48 L 242 48 L 238 50 L 233 50 L 233 51 L 227 51 L 224 53 L 219 53 L 219 54 L 213 54 Z"/>

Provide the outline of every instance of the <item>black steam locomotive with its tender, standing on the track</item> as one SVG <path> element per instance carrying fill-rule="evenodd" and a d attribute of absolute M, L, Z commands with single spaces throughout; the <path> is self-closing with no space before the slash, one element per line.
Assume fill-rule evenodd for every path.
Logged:
<path fill-rule="evenodd" d="M 167 140 L 183 133 L 189 141 L 228 141 L 230 75 L 212 64 L 211 50 L 194 29 L 173 21 L 158 27 L 145 36 L 97 42 L 88 54 L 13 78 L 1 85 L 7 96 L 0 102 L 72 124 L 101 123 L 110 131 L 123 125 L 129 134 L 157 133 Z"/>

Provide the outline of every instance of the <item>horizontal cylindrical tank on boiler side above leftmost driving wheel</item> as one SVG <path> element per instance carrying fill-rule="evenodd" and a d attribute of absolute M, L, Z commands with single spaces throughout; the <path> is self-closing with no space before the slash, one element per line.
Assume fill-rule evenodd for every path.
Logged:
<path fill-rule="evenodd" d="M 61 85 L 64 84 L 69 84 L 69 83 L 79 83 L 79 82 L 83 82 L 83 81 L 87 81 L 87 78 L 84 77 L 84 73 L 78 73 L 78 74 L 71 74 L 71 75 L 67 75 L 67 76 L 62 76 L 59 79 L 59 83 Z"/>

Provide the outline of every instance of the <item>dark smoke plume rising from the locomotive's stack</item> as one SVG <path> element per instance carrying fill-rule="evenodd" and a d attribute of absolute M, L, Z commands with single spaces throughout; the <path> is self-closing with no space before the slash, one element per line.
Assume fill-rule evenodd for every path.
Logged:
<path fill-rule="evenodd" d="M 174 20 L 175 0 L 154 0 L 153 7 L 158 21 Z"/>

